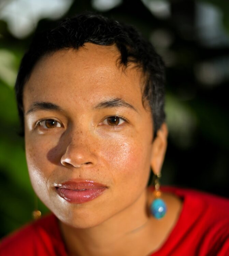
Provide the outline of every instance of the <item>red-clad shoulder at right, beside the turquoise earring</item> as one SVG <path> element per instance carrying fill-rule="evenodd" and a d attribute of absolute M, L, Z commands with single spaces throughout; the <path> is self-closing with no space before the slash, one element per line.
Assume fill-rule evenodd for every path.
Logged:
<path fill-rule="evenodd" d="M 171 246 L 190 247 L 194 255 L 229 255 L 229 199 L 181 187 L 162 186 L 161 190 L 183 200 Z"/>

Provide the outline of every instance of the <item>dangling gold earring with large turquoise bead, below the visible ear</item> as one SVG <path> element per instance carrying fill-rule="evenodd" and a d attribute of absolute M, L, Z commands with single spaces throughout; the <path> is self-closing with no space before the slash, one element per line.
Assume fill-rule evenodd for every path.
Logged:
<path fill-rule="evenodd" d="M 160 198 L 161 197 L 161 191 L 160 191 L 160 183 L 159 183 L 159 178 L 161 177 L 161 174 L 158 173 L 156 174 L 156 179 L 155 179 L 155 191 L 154 191 L 154 196 L 155 199 L 150 205 L 150 211 L 151 214 L 156 218 L 160 219 L 164 217 L 164 215 L 167 212 L 167 207 L 165 202 Z"/>

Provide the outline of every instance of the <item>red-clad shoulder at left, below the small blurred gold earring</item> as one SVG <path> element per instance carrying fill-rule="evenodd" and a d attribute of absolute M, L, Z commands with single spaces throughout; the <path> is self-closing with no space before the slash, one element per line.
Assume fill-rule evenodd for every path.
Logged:
<path fill-rule="evenodd" d="M 4 238 L 0 255 L 57 255 L 56 247 L 61 247 L 61 238 L 56 218 L 51 214 Z"/>

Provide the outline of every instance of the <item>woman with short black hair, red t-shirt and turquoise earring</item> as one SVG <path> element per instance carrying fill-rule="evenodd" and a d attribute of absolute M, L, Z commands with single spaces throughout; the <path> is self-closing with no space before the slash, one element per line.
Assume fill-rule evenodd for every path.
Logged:
<path fill-rule="evenodd" d="M 34 38 L 15 89 L 31 183 L 53 214 L 1 255 L 229 255 L 228 200 L 159 186 L 164 66 L 135 29 L 67 19 Z"/>

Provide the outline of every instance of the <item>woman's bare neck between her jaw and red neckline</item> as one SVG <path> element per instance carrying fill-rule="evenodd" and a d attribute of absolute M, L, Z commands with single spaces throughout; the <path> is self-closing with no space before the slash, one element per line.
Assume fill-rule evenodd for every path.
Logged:
<path fill-rule="evenodd" d="M 121 256 L 134 255 L 133 252 L 141 255 L 142 246 L 139 246 L 139 241 L 142 241 L 144 234 L 151 231 L 146 202 L 147 192 L 144 191 L 128 208 L 90 228 L 78 229 L 60 222 L 63 240 L 69 255 Z M 135 245 L 136 250 L 134 250 Z M 141 253 L 137 249 L 139 247 Z"/>

